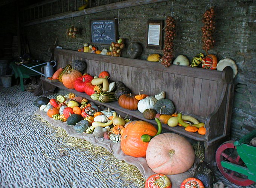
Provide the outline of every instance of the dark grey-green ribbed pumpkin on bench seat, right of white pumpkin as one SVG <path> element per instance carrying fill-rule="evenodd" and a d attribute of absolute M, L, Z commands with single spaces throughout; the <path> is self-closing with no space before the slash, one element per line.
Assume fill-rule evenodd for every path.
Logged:
<path fill-rule="evenodd" d="M 170 99 L 160 99 L 154 105 L 154 110 L 160 114 L 173 114 L 175 107 Z"/>

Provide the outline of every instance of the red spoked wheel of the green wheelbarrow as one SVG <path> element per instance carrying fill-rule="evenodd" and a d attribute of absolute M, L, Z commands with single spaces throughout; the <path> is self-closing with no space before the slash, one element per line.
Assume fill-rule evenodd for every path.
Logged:
<path fill-rule="evenodd" d="M 240 186 L 249 186 L 253 184 L 254 181 L 247 179 L 247 176 L 244 174 L 229 170 L 221 165 L 221 161 L 228 161 L 239 166 L 244 166 L 244 162 L 238 155 L 236 147 L 233 143 L 233 140 L 226 141 L 218 147 L 215 155 L 217 167 L 219 168 L 221 174 L 230 182 Z"/>

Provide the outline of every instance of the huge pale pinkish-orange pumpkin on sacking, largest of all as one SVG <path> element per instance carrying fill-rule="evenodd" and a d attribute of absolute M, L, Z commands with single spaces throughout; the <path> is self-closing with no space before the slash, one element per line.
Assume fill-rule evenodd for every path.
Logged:
<path fill-rule="evenodd" d="M 155 173 L 179 174 L 192 167 L 195 152 L 186 138 L 167 132 L 150 140 L 146 160 Z"/>

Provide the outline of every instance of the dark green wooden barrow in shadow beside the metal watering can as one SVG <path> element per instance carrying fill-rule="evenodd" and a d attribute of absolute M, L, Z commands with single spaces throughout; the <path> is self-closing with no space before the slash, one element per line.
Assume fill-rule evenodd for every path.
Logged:
<path fill-rule="evenodd" d="M 30 63 L 30 64 L 26 64 L 26 66 L 28 67 L 32 67 L 32 66 L 35 66 L 35 65 L 38 65 L 37 63 Z M 38 71 L 38 72 L 41 72 L 41 66 L 36 66 L 34 67 L 33 69 Z M 30 78 L 30 77 L 33 77 L 33 76 L 38 76 L 40 75 L 39 73 L 29 69 L 29 68 L 26 68 L 25 66 L 18 66 L 16 63 L 14 62 L 11 62 L 10 63 L 10 67 L 11 69 L 13 70 L 14 72 L 14 75 L 15 75 L 15 78 L 18 78 L 20 77 L 20 87 L 21 87 L 21 91 L 24 92 L 24 81 L 23 81 L 23 78 Z"/>

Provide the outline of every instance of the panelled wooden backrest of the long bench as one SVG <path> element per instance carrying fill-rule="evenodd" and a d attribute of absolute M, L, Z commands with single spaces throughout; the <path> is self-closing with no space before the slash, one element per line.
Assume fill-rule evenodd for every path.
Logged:
<path fill-rule="evenodd" d="M 70 50 L 55 50 L 58 67 L 73 60 L 87 62 L 86 72 L 99 75 L 108 71 L 112 81 L 122 81 L 133 93 L 154 96 L 165 91 L 175 110 L 206 119 L 220 105 L 227 87 L 221 71 L 171 65 L 163 69 L 158 62 L 102 56 Z"/>

